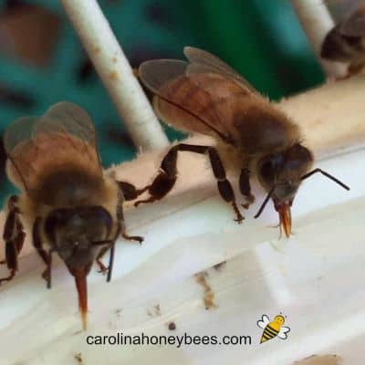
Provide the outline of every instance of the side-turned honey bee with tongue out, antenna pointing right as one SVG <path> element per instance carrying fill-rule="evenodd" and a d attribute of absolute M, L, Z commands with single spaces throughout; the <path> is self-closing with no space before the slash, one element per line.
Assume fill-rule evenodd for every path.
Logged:
<path fill-rule="evenodd" d="M 263 98 L 233 68 L 198 48 L 185 47 L 184 54 L 188 62 L 161 59 L 142 63 L 141 81 L 154 93 L 153 106 L 162 120 L 179 130 L 212 136 L 216 146 L 174 145 L 162 160 L 161 172 L 145 187 L 150 197 L 136 205 L 162 199 L 172 190 L 177 179 L 179 151 L 209 157 L 219 193 L 225 202 L 233 205 L 235 221 L 239 223 L 244 217 L 226 178 L 224 165 L 240 173 L 239 188 L 245 196 L 246 208 L 255 200 L 250 186 L 250 178 L 255 174 L 267 192 L 255 217 L 262 213 L 271 198 L 279 214 L 279 226 L 287 236 L 291 234 L 290 207 L 303 180 L 321 172 L 349 190 L 328 172 L 309 171 L 313 154 L 303 146 L 297 124 Z"/>

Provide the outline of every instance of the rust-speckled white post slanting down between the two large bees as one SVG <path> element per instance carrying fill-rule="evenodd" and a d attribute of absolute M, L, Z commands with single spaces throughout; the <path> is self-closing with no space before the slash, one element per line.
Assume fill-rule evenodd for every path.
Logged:
<path fill-rule="evenodd" d="M 60 0 L 139 150 L 168 145 L 151 104 L 133 75 L 96 0 Z"/>

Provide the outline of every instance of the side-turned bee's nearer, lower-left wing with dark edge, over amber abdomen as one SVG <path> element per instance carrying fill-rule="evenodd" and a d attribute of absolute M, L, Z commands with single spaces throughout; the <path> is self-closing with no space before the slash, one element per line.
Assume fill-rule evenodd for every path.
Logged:
<path fill-rule="evenodd" d="M 230 132 L 214 108 L 214 97 L 186 75 L 187 68 L 186 62 L 173 59 L 147 61 L 141 65 L 141 81 L 157 96 L 155 110 L 162 120 L 179 130 L 229 141 Z"/>

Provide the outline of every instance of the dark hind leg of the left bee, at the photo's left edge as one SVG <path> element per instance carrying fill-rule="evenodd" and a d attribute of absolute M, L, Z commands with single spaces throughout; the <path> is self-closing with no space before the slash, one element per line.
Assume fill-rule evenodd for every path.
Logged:
<path fill-rule="evenodd" d="M 8 214 L 6 216 L 3 239 L 5 241 L 5 260 L 2 263 L 7 265 L 10 273 L 8 276 L 0 278 L 0 284 L 3 281 L 10 281 L 16 276 L 18 269 L 17 256 L 23 247 L 26 239 L 26 233 L 23 230 L 23 225 L 19 220 L 19 210 L 16 207 L 17 196 L 13 195 L 8 203 Z"/>

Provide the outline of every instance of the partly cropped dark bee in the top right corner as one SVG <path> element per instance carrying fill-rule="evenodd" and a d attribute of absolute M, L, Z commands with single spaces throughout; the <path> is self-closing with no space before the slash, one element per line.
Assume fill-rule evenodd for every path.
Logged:
<path fill-rule="evenodd" d="M 365 66 L 365 5 L 360 5 L 325 37 L 320 57 L 349 63 L 348 76 Z"/>

